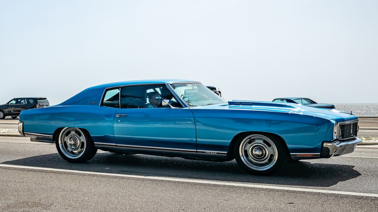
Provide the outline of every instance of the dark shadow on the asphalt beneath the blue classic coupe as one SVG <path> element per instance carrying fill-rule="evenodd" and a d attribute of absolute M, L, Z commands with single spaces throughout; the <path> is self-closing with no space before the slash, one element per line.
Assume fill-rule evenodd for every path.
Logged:
<path fill-rule="evenodd" d="M 314 163 L 313 163 L 314 162 Z M 69 163 L 58 153 L 33 156 L 2 164 L 46 167 L 100 173 L 174 177 L 223 182 L 245 182 L 293 186 L 330 187 L 361 174 L 354 166 L 316 163 L 312 160 L 286 163 L 274 174 L 258 176 L 242 170 L 235 160 L 208 162 L 141 154 L 98 152 L 86 163 Z"/>

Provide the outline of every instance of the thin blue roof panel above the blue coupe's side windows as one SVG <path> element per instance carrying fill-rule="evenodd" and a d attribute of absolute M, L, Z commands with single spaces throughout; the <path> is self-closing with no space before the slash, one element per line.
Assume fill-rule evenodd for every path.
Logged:
<path fill-rule="evenodd" d="M 196 82 L 195 80 L 183 80 L 183 79 L 150 79 L 150 80 L 130 80 L 121 82 L 111 82 L 102 85 L 97 85 L 92 88 L 111 88 L 126 85 L 143 85 L 143 84 L 165 84 L 165 83 L 180 83 L 180 82 Z"/>

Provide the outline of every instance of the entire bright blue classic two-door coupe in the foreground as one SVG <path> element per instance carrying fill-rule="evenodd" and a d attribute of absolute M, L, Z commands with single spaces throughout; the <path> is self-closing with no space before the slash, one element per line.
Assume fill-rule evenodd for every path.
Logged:
<path fill-rule="evenodd" d="M 287 159 L 354 151 L 358 119 L 291 103 L 226 102 L 200 82 L 126 81 L 94 86 L 57 106 L 21 112 L 18 131 L 55 142 L 69 162 L 96 151 L 236 162 L 267 174 Z"/>

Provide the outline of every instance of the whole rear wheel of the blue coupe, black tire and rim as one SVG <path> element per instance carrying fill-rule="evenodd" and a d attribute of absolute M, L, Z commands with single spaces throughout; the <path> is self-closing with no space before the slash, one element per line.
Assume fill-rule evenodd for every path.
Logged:
<path fill-rule="evenodd" d="M 72 163 L 82 163 L 94 157 L 97 149 L 91 136 L 84 130 L 66 127 L 55 142 L 62 158 Z"/>

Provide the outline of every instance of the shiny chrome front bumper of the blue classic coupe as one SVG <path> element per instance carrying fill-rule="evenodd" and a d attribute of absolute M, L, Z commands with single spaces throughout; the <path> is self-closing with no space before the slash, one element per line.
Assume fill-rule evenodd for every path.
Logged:
<path fill-rule="evenodd" d="M 332 156 L 339 156 L 351 153 L 357 146 L 357 143 L 362 142 L 359 137 L 354 137 L 352 140 L 340 142 L 338 140 L 333 142 L 324 142 L 321 152 L 321 157 L 330 158 Z"/>

